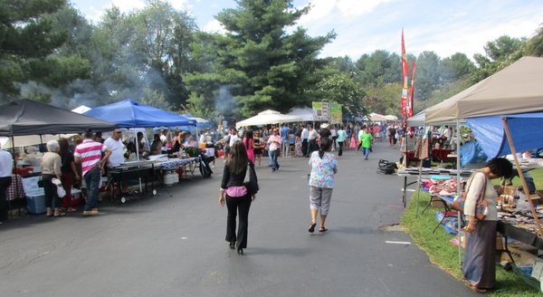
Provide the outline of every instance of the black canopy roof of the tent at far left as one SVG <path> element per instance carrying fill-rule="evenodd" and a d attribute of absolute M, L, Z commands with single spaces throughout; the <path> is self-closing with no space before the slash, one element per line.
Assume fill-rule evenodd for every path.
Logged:
<path fill-rule="evenodd" d="M 0 136 L 81 133 L 110 130 L 116 125 L 29 99 L 0 106 Z"/>

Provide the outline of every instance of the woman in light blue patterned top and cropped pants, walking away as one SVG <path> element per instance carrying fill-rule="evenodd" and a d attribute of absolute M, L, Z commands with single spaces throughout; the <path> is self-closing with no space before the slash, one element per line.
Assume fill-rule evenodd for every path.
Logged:
<path fill-rule="evenodd" d="M 319 151 L 311 154 L 310 158 L 310 233 L 315 231 L 317 225 L 317 214 L 320 212 L 319 232 L 326 232 L 324 222 L 329 213 L 332 188 L 334 187 L 334 174 L 338 172 L 338 161 L 336 155 L 330 152 L 332 140 L 329 138 L 320 139 Z"/>

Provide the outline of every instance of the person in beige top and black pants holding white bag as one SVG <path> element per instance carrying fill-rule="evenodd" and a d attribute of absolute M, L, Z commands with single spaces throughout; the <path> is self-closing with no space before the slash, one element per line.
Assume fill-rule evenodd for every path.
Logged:
<path fill-rule="evenodd" d="M 61 199 L 57 194 L 57 187 L 52 183 L 52 178 L 62 180 L 61 165 L 62 160 L 59 152 L 61 148 L 57 140 L 47 142 L 47 150 L 42 159 L 42 180 L 43 191 L 45 192 L 46 216 L 64 216 L 61 212 Z M 54 214 L 52 206 L 54 205 Z"/>

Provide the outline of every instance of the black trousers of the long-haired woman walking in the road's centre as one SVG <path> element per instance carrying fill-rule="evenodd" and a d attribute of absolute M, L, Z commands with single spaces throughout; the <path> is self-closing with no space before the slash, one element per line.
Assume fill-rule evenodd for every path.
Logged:
<path fill-rule="evenodd" d="M 226 195 L 226 208 L 228 216 L 226 218 L 226 241 L 236 242 L 237 248 L 247 247 L 247 229 L 249 227 L 249 208 L 251 207 L 251 196 L 231 197 Z M 239 212 L 240 225 L 238 226 L 237 236 L 235 234 L 235 219 Z"/>

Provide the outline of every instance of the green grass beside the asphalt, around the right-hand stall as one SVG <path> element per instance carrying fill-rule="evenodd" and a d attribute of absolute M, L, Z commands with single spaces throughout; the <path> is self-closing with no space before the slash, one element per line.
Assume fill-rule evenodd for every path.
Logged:
<path fill-rule="evenodd" d="M 538 189 L 543 188 L 543 168 L 530 171 L 536 182 Z M 519 184 L 519 178 L 513 180 L 514 184 Z M 435 233 L 432 233 L 433 227 L 437 224 L 435 219 L 436 208 L 429 207 L 422 215 L 424 206 L 428 204 L 430 195 L 421 192 L 419 202 L 419 216 L 416 217 L 416 193 L 405 209 L 402 217 L 402 225 L 411 237 L 414 243 L 418 244 L 432 263 L 451 273 L 458 280 L 462 280 L 462 271 L 458 264 L 458 247 L 449 243 L 449 239 L 454 235 L 448 234 L 443 227 L 439 227 Z M 463 255 L 462 255 L 463 256 Z M 496 267 L 496 288 L 490 292 L 489 296 L 534 296 L 542 295 L 541 292 L 530 287 L 527 283 L 515 273 L 505 271 L 498 265 Z M 459 285 L 463 285 L 459 283 Z"/>

